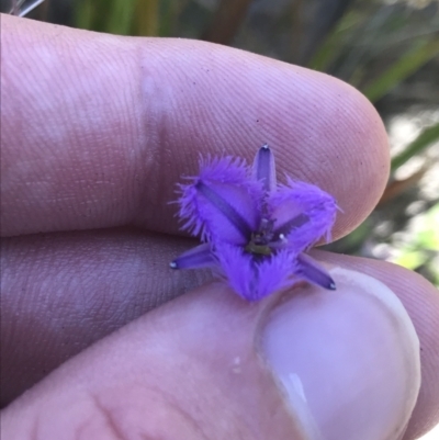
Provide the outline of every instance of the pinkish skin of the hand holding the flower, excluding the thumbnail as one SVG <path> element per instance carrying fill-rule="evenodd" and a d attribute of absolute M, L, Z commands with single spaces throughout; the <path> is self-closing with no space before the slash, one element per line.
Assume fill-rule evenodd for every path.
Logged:
<path fill-rule="evenodd" d="M 200 151 L 251 160 L 267 142 L 279 176 L 336 196 L 344 210 L 337 239 L 368 216 L 386 184 L 387 140 L 375 110 L 328 76 L 201 42 L 109 36 L 5 15 L 1 41 L 1 399 L 12 402 L 5 429 L 18 439 L 80 438 L 97 414 L 93 438 L 130 438 L 128 417 L 146 438 L 256 438 L 240 403 L 254 393 L 251 402 L 283 408 L 272 380 L 257 370 L 236 386 L 217 364 L 248 350 L 251 341 L 236 335 L 256 326 L 263 305 L 249 312 L 216 283 L 180 296 L 210 275 L 169 272 L 193 241 L 168 202 L 180 177 L 196 173 Z M 439 415 L 437 291 L 385 262 L 318 258 L 378 278 L 407 308 L 423 348 L 423 385 L 405 437 L 415 439 Z M 198 360 L 219 336 L 194 337 L 194 316 L 213 328 L 228 321 L 229 337 L 221 335 L 217 358 L 206 363 Z M 198 402 L 181 386 L 191 365 L 195 388 L 216 384 L 215 398 Z M 203 417 L 184 411 L 193 404 L 205 407 Z M 65 405 L 76 408 L 69 420 Z M 283 409 L 277 424 L 264 409 L 250 414 L 261 418 L 266 438 L 301 438 Z M 213 415 L 232 431 L 214 429 Z"/>

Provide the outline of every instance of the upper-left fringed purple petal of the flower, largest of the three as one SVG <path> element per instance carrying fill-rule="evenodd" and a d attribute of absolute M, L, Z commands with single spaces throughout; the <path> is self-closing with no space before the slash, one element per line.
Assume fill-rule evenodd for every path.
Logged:
<path fill-rule="evenodd" d="M 248 172 L 243 160 L 230 157 L 201 163 L 200 177 L 180 185 L 182 228 L 203 241 L 246 244 L 260 222 L 263 194 Z"/>

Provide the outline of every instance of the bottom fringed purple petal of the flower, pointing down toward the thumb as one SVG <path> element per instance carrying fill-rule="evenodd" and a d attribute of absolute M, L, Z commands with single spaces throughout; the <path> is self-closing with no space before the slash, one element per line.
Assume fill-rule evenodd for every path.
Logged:
<path fill-rule="evenodd" d="M 223 245 L 216 249 L 216 256 L 230 287 L 247 301 L 261 300 L 297 280 L 292 277 L 295 258 L 288 250 L 257 261 L 237 246 Z"/>

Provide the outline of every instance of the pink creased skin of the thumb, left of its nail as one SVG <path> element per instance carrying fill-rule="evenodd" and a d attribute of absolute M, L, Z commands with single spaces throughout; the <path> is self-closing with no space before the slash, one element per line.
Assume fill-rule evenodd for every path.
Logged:
<path fill-rule="evenodd" d="M 37 425 L 47 439 L 140 432 L 145 438 L 302 440 L 254 352 L 257 316 L 257 307 L 223 284 L 201 287 L 52 373 L 5 410 L 3 432 L 32 438 Z"/>

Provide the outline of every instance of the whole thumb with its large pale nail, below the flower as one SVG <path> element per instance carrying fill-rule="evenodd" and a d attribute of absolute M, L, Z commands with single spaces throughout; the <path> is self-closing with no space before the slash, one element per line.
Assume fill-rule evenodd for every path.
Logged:
<path fill-rule="evenodd" d="M 3 438 L 399 439 L 420 381 L 412 321 L 375 279 L 331 274 L 335 292 L 181 296 L 16 399 Z"/>

